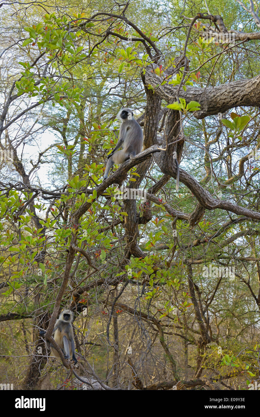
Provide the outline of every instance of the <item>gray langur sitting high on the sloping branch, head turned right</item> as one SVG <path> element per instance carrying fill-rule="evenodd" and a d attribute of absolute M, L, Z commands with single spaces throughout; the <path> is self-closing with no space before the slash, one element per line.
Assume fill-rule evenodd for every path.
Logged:
<path fill-rule="evenodd" d="M 117 114 L 117 119 L 122 122 L 120 125 L 119 139 L 115 148 L 107 155 L 107 165 L 103 176 L 104 180 L 107 178 L 110 168 L 112 168 L 114 163 L 119 165 L 129 158 L 134 158 L 143 148 L 143 131 L 139 123 L 134 119 L 133 111 L 130 108 L 122 108 Z M 122 144 L 122 150 L 117 151 Z"/>

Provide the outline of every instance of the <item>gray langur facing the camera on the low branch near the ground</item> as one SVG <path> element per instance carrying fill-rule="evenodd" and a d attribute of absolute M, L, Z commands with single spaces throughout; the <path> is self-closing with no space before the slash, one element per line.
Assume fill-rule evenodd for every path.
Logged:
<path fill-rule="evenodd" d="M 60 313 L 59 318 L 56 320 L 52 334 L 55 342 L 59 345 L 62 350 L 65 359 L 73 359 L 75 364 L 77 359 L 75 357 L 75 342 L 73 335 L 72 322 L 74 314 L 70 310 L 63 310 Z M 46 332 L 41 331 L 40 335 L 43 336 Z M 55 356 L 60 359 L 60 355 L 57 350 L 53 347 L 52 343 L 47 342 L 47 348 L 50 349 L 51 356 Z"/>

